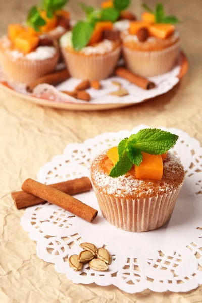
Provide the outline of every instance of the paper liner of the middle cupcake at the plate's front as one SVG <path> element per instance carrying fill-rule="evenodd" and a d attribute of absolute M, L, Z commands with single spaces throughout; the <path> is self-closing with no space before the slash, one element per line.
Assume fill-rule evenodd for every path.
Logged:
<path fill-rule="evenodd" d="M 62 48 L 70 75 L 82 80 L 102 80 L 109 77 L 117 65 L 121 47 L 105 54 L 76 54 Z"/>

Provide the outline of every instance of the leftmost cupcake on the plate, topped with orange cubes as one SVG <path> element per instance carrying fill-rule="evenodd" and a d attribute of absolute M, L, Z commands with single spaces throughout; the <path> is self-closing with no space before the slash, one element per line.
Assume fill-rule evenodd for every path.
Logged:
<path fill-rule="evenodd" d="M 54 71 L 59 59 L 58 43 L 31 34 L 20 24 L 9 25 L 8 35 L 0 39 L 0 65 L 12 84 L 29 84 Z"/>

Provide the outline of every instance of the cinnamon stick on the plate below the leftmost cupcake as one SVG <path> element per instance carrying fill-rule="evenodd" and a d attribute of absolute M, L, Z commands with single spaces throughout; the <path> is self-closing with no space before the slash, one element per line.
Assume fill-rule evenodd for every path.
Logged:
<path fill-rule="evenodd" d="M 56 71 L 56 72 L 53 72 L 51 74 L 47 74 L 47 75 L 45 75 L 43 77 L 40 77 L 37 80 L 31 82 L 26 87 L 26 90 L 27 90 L 27 92 L 33 92 L 33 89 L 38 84 L 47 83 L 47 84 L 51 84 L 51 85 L 56 85 L 56 84 L 59 84 L 59 83 L 65 81 L 69 77 L 70 77 L 70 75 L 69 75 L 68 70 L 66 68 L 64 68 L 60 71 Z"/>

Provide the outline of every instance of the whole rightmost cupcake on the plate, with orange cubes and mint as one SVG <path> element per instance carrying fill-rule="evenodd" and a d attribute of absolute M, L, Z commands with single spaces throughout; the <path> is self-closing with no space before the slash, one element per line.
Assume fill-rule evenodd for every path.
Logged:
<path fill-rule="evenodd" d="M 145 77 L 171 70 L 180 50 L 179 33 L 172 24 L 177 22 L 174 16 L 164 15 L 161 4 L 155 13 L 143 13 L 142 21 L 131 21 L 121 35 L 128 69 Z"/>

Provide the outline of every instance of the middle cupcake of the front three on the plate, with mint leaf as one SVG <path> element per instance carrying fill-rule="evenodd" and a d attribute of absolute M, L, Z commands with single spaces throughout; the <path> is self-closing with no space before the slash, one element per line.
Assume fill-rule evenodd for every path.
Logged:
<path fill-rule="evenodd" d="M 120 57 L 119 32 L 110 21 L 97 22 L 94 29 L 86 22 L 61 37 L 62 54 L 72 77 L 102 80 L 112 75 Z"/>

